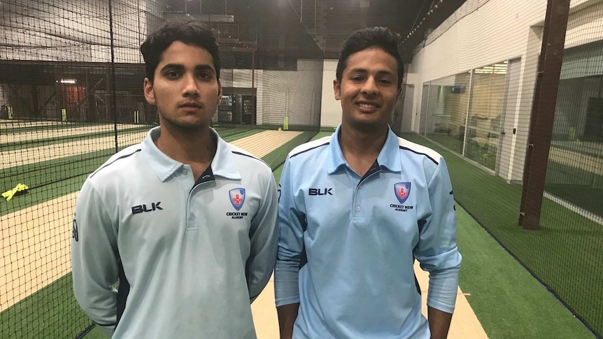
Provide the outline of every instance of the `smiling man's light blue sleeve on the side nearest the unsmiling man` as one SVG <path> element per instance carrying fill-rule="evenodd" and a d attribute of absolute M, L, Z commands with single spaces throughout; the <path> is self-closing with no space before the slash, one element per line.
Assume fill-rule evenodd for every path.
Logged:
<path fill-rule="evenodd" d="M 274 268 L 274 294 L 276 306 L 299 303 L 299 264 L 304 248 L 305 214 L 298 210 L 292 187 L 290 159 L 285 161 L 279 189 L 278 225 L 281 235 L 278 240 L 278 255 Z"/>

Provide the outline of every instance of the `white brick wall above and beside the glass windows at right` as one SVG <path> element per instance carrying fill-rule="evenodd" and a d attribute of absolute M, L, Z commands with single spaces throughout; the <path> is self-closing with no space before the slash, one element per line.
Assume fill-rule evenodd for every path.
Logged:
<path fill-rule="evenodd" d="M 506 107 L 507 114 L 514 113 L 511 121 L 516 134 L 507 133 L 504 137 L 511 138 L 505 142 L 509 147 L 502 154 L 509 161 L 499 174 L 508 182 L 521 180 L 546 3 L 545 0 L 467 0 L 435 29 L 425 47 L 416 50 L 409 68 L 410 73 L 419 77 L 415 82 L 413 131 L 419 131 L 423 83 L 520 59 L 516 107 Z M 600 0 L 572 1 L 566 48 L 603 38 L 601 6 Z"/>

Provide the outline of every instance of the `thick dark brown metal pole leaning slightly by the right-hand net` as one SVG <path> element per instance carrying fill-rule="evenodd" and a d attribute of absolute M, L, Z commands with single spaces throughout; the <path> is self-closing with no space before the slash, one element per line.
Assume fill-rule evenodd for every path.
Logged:
<path fill-rule="evenodd" d="M 527 139 L 519 224 L 538 229 L 570 0 L 548 0 Z"/>

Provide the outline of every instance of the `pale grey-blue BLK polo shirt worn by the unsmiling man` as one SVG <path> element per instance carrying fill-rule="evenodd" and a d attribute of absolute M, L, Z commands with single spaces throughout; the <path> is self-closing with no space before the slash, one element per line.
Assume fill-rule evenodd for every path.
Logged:
<path fill-rule="evenodd" d="M 212 129 L 215 157 L 195 182 L 155 146 L 159 133 L 84 183 L 71 240 L 76 299 L 113 338 L 255 338 L 250 301 L 278 241 L 271 169 Z"/>

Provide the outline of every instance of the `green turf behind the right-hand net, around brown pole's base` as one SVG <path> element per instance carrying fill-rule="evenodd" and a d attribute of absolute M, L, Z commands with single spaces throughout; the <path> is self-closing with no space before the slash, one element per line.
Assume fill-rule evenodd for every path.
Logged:
<path fill-rule="evenodd" d="M 541 229 L 518 226 L 521 187 L 469 164 L 418 134 L 403 138 L 439 152 L 455 199 L 595 332 L 603 334 L 603 226 L 544 199 Z"/>

